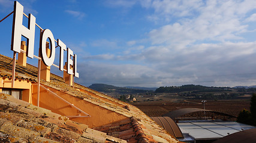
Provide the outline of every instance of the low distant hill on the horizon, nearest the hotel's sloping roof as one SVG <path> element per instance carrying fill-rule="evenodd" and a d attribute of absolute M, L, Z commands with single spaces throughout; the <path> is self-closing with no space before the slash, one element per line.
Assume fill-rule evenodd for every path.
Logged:
<path fill-rule="evenodd" d="M 127 87 L 118 87 L 113 85 L 106 85 L 101 83 L 94 83 L 90 85 L 88 88 L 94 89 L 95 91 L 105 92 L 107 94 L 141 94 L 146 93 L 149 90 L 142 90 L 142 89 L 132 89 Z"/>

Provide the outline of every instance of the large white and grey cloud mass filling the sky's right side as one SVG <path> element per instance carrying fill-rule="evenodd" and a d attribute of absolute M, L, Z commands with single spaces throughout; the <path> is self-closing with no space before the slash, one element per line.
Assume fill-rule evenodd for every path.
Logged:
<path fill-rule="evenodd" d="M 256 19 L 251 14 L 256 9 L 254 1 L 140 2 L 143 8 L 153 9 L 147 15 L 156 23 L 155 29 L 147 33 L 152 45 L 145 46 L 148 40 L 135 39 L 126 42 L 128 48 L 119 55 L 88 55 L 86 66 L 81 69 L 85 71 L 85 79 L 79 79 L 81 82 L 156 87 L 191 83 L 255 85 L 256 42 L 245 42 L 242 35 L 249 31 L 248 22 Z M 129 7 L 132 5 L 135 3 Z M 106 39 L 91 45 L 118 46 Z M 122 64 L 123 61 L 131 64 Z"/>

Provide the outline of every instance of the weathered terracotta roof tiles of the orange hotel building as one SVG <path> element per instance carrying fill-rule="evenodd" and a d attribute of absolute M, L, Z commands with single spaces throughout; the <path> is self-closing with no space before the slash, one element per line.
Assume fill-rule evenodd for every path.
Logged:
<path fill-rule="evenodd" d="M 11 58 L 0 55 L 0 61 L 0 76 L 11 79 L 11 65 L 8 64 L 10 63 Z M 27 64 L 26 67 L 23 67 L 17 64 L 16 80 L 28 80 L 31 82 L 37 82 L 37 67 L 31 66 L 29 64 Z M 23 105 L 23 107 L 18 104 L 16 107 L 20 108 L 17 108 L 18 110 L 14 110 L 14 112 L 17 111 L 17 113 L 23 114 L 26 113 L 26 111 L 31 111 L 31 113 L 26 113 L 23 116 L 19 115 L 19 117 L 22 117 L 22 119 L 20 120 L 24 120 L 23 122 L 28 124 L 27 128 L 30 127 L 33 123 L 43 126 L 43 129 L 40 130 L 40 135 L 35 134 L 36 136 L 39 135 L 38 138 L 40 139 L 50 139 L 50 141 L 56 141 L 56 139 L 60 139 L 58 140 L 59 142 L 64 142 L 64 140 L 70 142 L 85 142 L 85 140 L 88 139 L 91 139 L 91 141 L 101 142 L 104 140 L 104 138 L 106 141 L 114 140 L 117 142 L 124 142 L 124 140 L 122 139 L 125 139 L 128 142 L 178 142 L 177 139 L 169 135 L 166 130 L 158 126 L 152 119 L 150 119 L 150 117 L 146 116 L 146 114 L 144 114 L 141 110 L 134 107 L 133 105 L 116 100 L 115 98 L 101 94 L 100 92 L 86 88 L 85 86 L 79 85 L 77 83 L 75 83 L 74 88 L 71 88 L 64 83 L 62 77 L 56 76 L 55 74 L 51 74 L 50 80 L 50 82 L 41 80 L 41 84 L 44 86 L 49 86 L 53 89 L 57 89 L 58 91 L 64 92 L 65 94 L 70 94 L 73 97 L 79 98 L 80 100 L 82 99 L 90 102 L 91 104 L 106 108 L 107 110 L 113 111 L 115 113 L 122 114 L 123 116 L 128 117 L 128 120 L 121 120 L 118 122 L 109 123 L 108 125 L 94 128 L 96 130 L 104 132 L 102 133 L 97 132 L 96 130 L 92 130 L 90 128 L 83 129 L 81 127 L 80 129 L 79 127 L 82 126 L 81 124 L 73 122 L 67 117 L 52 113 L 50 110 L 38 108 L 32 104 Z M 26 102 L 26 104 L 28 104 L 28 102 Z M 38 113 L 38 111 L 35 112 L 33 110 L 34 108 L 37 108 L 38 110 L 43 110 L 43 114 L 41 114 L 41 112 Z M 22 113 L 20 113 L 19 111 Z M 8 110 L 7 113 L 10 114 L 10 111 Z M 31 117 L 27 114 L 32 114 L 33 116 Z M 53 114 L 55 117 L 53 118 L 53 116 L 49 116 L 49 114 Z M 57 115 L 58 117 L 56 118 Z M 26 117 L 28 119 L 25 119 Z M 31 117 L 32 119 L 29 119 L 29 117 Z M 17 128 L 23 128 L 23 130 L 26 129 L 26 126 L 20 127 L 21 124 L 19 124 L 20 126 L 18 126 L 17 123 L 20 122 L 16 122 L 12 124 L 12 126 L 17 126 Z M 22 124 L 26 125 L 25 123 Z M 41 126 L 36 126 L 34 127 L 35 129 L 31 127 L 31 129 L 34 129 L 32 130 L 33 132 L 37 132 L 37 129 L 41 129 L 40 127 Z M 67 132 L 65 132 L 66 130 Z M 24 130 L 24 132 L 26 132 L 26 130 Z M 32 135 L 34 134 L 32 133 Z M 100 137 L 98 138 L 95 135 Z M 13 132 L 12 136 L 17 135 Z M 21 136 L 19 138 L 25 137 Z M 116 138 L 120 139 L 117 140 Z M 30 138 L 28 138 L 27 140 L 29 139 Z M 61 139 L 64 140 L 62 141 Z"/>

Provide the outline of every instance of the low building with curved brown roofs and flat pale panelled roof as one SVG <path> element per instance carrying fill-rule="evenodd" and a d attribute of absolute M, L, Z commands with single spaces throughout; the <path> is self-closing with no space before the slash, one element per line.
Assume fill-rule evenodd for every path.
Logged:
<path fill-rule="evenodd" d="M 213 119 L 213 117 L 218 119 Z M 152 117 L 158 125 L 182 142 L 209 143 L 218 139 L 222 142 L 233 142 L 231 136 L 228 138 L 225 136 L 234 137 L 233 134 L 243 135 L 247 132 L 251 135 L 247 135 L 246 139 L 253 141 L 255 126 L 228 121 L 233 118 L 234 116 L 229 114 L 200 108 L 180 108 L 164 114 L 164 117 Z M 252 132 L 246 130 L 252 130 Z M 239 133 L 243 131 L 246 132 Z M 222 138 L 225 139 L 222 140 Z"/>

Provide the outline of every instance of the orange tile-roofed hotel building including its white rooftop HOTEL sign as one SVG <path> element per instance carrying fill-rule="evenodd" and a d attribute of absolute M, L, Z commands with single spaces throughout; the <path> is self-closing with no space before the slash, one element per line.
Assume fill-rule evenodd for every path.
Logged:
<path fill-rule="evenodd" d="M 178 142 L 138 108 L 75 83 L 77 55 L 35 23 L 34 15 L 23 13 L 17 1 L 5 18 L 12 14 L 13 58 L 0 55 L 0 142 Z M 53 64 L 56 48 L 59 66 Z M 37 58 L 38 66 L 28 64 L 27 57 Z M 63 77 L 50 73 L 55 67 Z"/>

